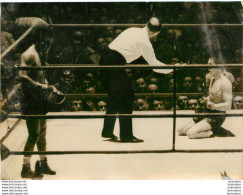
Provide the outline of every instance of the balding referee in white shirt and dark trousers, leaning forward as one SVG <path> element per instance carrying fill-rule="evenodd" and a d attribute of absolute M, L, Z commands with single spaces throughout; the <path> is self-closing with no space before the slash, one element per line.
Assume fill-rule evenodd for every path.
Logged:
<path fill-rule="evenodd" d="M 156 59 L 151 41 L 156 41 L 161 24 L 152 17 L 143 28 L 128 28 L 109 44 L 108 51 L 101 57 L 100 65 L 125 65 L 141 56 L 149 65 L 165 66 Z M 171 69 L 154 69 L 158 73 L 170 73 Z M 132 81 L 123 70 L 102 70 L 101 80 L 108 93 L 106 114 L 132 114 L 135 100 Z M 102 137 L 118 139 L 113 134 L 115 118 L 105 118 Z M 143 142 L 133 135 L 132 118 L 120 118 L 120 141 L 124 143 Z"/>

